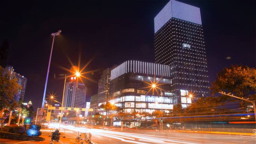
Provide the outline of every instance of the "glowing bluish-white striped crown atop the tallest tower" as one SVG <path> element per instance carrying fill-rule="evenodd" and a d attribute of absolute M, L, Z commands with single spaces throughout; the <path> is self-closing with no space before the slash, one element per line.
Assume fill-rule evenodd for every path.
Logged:
<path fill-rule="evenodd" d="M 198 7 L 191 6 L 176 0 L 170 0 L 154 19 L 155 33 L 171 18 L 177 18 L 199 25 L 202 24 L 200 9 Z"/>

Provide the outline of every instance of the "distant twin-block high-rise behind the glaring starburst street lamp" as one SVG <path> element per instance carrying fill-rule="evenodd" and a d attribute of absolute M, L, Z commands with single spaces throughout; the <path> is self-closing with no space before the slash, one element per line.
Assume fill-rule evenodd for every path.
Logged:
<path fill-rule="evenodd" d="M 86 86 L 76 81 L 67 82 L 63 107 L 85 107 L 86 106 Z"/>

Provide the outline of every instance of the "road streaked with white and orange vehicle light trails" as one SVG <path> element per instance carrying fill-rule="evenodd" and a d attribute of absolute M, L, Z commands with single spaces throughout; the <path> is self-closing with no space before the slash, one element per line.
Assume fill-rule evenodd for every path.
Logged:
<path fill-rule="evenodd" d="M 65 126 L 66 138 L 54 144 L 74 144 L 75 139 L 72 134 L 80 132 L 91 132 L 91 140 L 95 144 L 256 144 L 255 135 L 227 135 L 227 134 L 202 134 L 185 132 L 159 132 L 127 129 L 118 132 L 115 129 L 93 129 L 84 127 Z M 67 132 L 70 132 L 67 134 Z M 1 144 L 50 144 L 50 137 L 43 135 L 45 141 L 13 141 L 0 139 Z M 83 142 L 84 143 L 84 142 Z M 78 143 L 77 143 L 78 144 Z M 79 143 L 80 144 L 80 143 Z M 85 144 L 85 143 L 84 143 Z"/>

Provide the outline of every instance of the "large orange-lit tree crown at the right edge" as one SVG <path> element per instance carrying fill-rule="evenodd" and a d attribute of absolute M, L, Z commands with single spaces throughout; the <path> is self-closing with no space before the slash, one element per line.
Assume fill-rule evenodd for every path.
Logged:
<path fill-rule="evenodd" d="M 241 65 L 232 65 L 229 68 L 223 68 L 217 74 L 217 79 L 211 85 L 212 95 L 219 91 L 225 91 L 235 96 L 248 97 L 250 100 L 255 101 L 256 69 Z M 241 101 L 240 104 L 243 107 L 244 101 Z"/>

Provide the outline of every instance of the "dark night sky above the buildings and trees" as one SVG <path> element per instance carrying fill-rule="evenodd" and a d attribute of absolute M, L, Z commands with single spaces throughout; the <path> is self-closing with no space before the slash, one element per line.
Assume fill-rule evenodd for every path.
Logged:
<path fill-rule="evenodd" d="M 61 101 L 64 80 L 54 74 L 70 68 L 67 55 L 77 65 L 79 50 L 86 70 L 111 67 L 134 59 L 154 62 L 153 18 L 168 1 L 0 1 L 0 42 L 10 43 L 9 65 L 27 77 L 24 101 L 41 107 L 46 71 L 55 38 L 47 94 Z M 200 7 L 210 82 L 231 64 L 255 67 L 256 15 L 253 1 L 182 1 Z M 231 56 L 231 59 L 226 59 Z M 98 80 L 101 71 L 86 76 Z M 88 97 L 97 83 L 84 80 Z"/>

